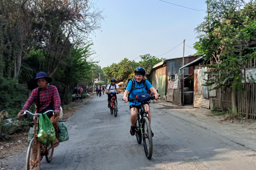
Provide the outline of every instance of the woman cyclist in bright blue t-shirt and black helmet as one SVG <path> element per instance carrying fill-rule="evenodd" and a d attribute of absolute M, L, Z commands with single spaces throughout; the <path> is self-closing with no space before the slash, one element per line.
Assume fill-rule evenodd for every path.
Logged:
<path fill-rule="evenodd" d="M 150 90 L 151 92 L 154 93 L 155 99 L 157 100 L 159 97 L 159 94 L 157 93 L 156 89 L 150 84 L 148 80 L 146 80 L 145 74 L 146 71 L 142 67 L 137 67 L 134 70 L 135 73 L 135 79 L 134 80 L 134 88 L 132 89 L 132 81 L 129 81 L 126 90 L 124 92 L 123 100 L 125 102 L 128 102 L 127 95 L 131 92 L 130 98 L 135 99 L 136 95 L 142 95 L 146 94 L 147 90 Z M 146 87 L 145 87 L 146 86 Z M 146 89 L 147 88 L 147 89 Z M 148 112 L 148 119 L 149 123 L 151 123 L 151 115 L 150 115 L 150 108 L 149 108 L 149 103 L 144 105 L 145 112 Z M 135 122 L 137 118 L 137 112 L 138 110 L 141 109 L 141 103 L 140 102 L 130 102 L 130 111 L 131 111 L 131 128 L 130 128 L 130 133 L 133 136 L 135 134 Z M 154 136 L 154 133 L 152 132 L 152 136 Z"/>

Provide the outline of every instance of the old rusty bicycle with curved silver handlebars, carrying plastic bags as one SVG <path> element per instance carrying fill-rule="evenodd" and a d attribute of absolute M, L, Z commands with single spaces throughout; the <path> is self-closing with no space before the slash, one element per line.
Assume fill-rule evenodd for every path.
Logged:
<path fill-rule="evenodd" d="M 53 110 L 49 110 L 45 113 L 48 112 L 53 112 Z M 35 116 L 35 128 L 34 128 L 34 137 L 30 140 L 29 145 L 28 145 L 28 151 L 27 151 L 27 159 L 26 159 L 26 170 L 40 170 L 40 161 L 43 159 L 45 156 L 45 159 L 48 163 L 51 162 L 52 156 L 53 156 L 53 151 L 54 147 L 52 145 L 46 145 L 38 141 L 37 139 L 37 134 L 39 130 L 39 117 L 41 114 L 33 114 L 29 111 L 24 111 L 22 115 L 25 115 L 29 113 L 30 115 Z"/>

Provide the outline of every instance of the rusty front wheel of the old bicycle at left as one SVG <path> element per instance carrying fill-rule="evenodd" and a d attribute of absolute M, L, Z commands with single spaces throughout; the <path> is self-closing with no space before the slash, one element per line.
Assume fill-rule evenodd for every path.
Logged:
<path fill-rule="evenodd" d="M 26 158 L 26 170 L 33 170 L 33 169 L 40 170 L 40 157 L 41 157 L 40 145 L 38 140 L 34 137 L 30 140 L 28 145 L 27 158 Z M 32 160 L 30 160 L 31 158 Z"/>

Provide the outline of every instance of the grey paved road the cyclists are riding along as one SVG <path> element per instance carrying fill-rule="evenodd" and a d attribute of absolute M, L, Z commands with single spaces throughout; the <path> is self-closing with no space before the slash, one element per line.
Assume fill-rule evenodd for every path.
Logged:
<path fill-rule="evenodd" d="M 179 112 L 150 104 L 153 156 L 148 160 L 142 144 L 131 136 L 128 104 L 118 95 L 117 117 L 107 108 L 107 96 L 96 97 L 67 121 L 70 139 L 54 150 L 44 170 L 253 170 L 256 152 L 225 137 L 220 129 L 199 126 Z M 254 143 L 255 144 L 255 143 Z M 25 155 L 25 153 L 24 153 Z M 13 163 L 25 169 L 25 158 Z M 10 168 L 11 169 L 11 168 Z"/>

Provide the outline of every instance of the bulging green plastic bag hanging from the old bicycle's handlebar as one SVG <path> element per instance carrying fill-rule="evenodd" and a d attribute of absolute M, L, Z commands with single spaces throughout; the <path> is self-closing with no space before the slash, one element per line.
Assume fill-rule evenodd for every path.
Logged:
<path fill-rule="evenodd" d="M 52 125 L 51 120 L 48 118 L 46 114 L 41 115 L 39 118 L 39 131 L 37 134 L 37 138 L 41 143 L 51 144 L 52 141 L 55 140 L 55 129 Z"/>

